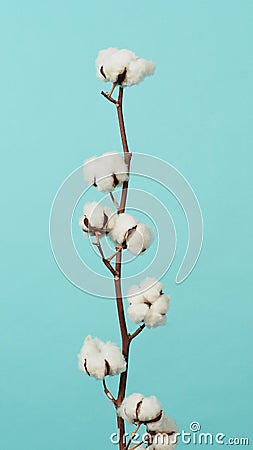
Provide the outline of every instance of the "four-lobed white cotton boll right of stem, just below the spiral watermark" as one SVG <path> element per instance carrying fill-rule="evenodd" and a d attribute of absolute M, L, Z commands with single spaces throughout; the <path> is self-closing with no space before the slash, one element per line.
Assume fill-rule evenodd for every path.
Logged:
<path fill-rule="evenodd" d="M 132 286 L 127 294 L 128 318 L 135 323 L 143 322 L 148 328 L 165 325 L 170 297 L 162 292 L 162 288 L 156 278 L 146 278 L 140 286 Z"/>

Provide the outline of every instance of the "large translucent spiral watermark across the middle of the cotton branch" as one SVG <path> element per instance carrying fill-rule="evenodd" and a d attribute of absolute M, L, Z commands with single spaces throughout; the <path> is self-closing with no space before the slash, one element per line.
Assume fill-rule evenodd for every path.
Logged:
<path fill-rule="evenodd" d="M 160 279 L 172 264 L 177 247 L 177 233 L 168 209 L 169 193 L 181 206 L 188 225 L 187 248 L 176 276 L 176 283 L 182 283 L 195 266 L 202 246 L 203 220 L 197 197 L 190 184 L 175 167 L 151 155 L 133 154 L 131 177 L 133 181 L 136 177 L 137 185 L 141 188 L 129 188 L 126 212 L 137 211 L 148 218 L 157 236 L 157 248 L 152 259 L 149 259 L 147 265 L 141 267 L 139 272 L 137 270 L 131 276 L 124 275 L 123 288 L 125 281 L 138 284 L 140 273 L 143 278 L 152 274 Z M 155 189 L 152 188 L 153 183 Z M 131 182 L 131 185 L 133 184 Z M 55 196 L 50 214 L 51 247 L 60 270 L 75 286 L 98 297 L 114 298 L 110 274 L 99 273 L 99 264 L 96 264 L 95 269 L 89 267 L 83 255 L 79 254 L 73 239 L 73 229 L 77 227 L 76 222 L 72 224 L 73 214 L 80 199 L 84 203 L 90 201 L 88 198 L 90 189 L 94 187 L 86 187 L 83 167 L 76 169 L 63 182 Z M 158 198 L 159 195 L 162 195 L 163 201 Z M 101 203 L 105 200 L 110 201 L 109 195 L 104 196 Z M 79 217 L 80 215 L 81 210 Z M 107 246 L 108 242 L 109 240 Z M 96 253 L 94 246 L 92 248 Z M 99 257 L 99 254 L 96 256 Z"/>

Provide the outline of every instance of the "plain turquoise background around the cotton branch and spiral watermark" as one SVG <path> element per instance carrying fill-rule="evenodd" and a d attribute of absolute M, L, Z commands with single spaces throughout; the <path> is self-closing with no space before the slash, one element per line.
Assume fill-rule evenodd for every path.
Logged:
<path fill-rule="evenodd" d="M 115 448 L 112 407 L 76 360 L 89 333 L 119 342 L 115 306 L 64 278 L 48 237 L 62 181 L 85 158 L 119 148 L 94 72 L 108 46 L 157 63 L 126 93 L 130 146 L 182 172 L 205 222 L 197 266 L 176 285 L 186 223 L 171 199 L 179 247 L 164 279 L 168 326 L 134 343 L 129 392 L 157 395 L 180 428 L 197 420 L 252 443 L 253 2 L 0 5 L 0 448 Z"/>

